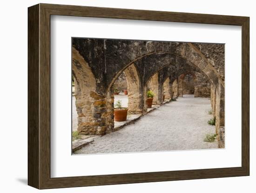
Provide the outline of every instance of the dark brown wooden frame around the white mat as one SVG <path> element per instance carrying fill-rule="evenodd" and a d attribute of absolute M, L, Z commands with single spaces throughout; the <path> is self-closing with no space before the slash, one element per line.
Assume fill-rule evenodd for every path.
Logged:
<path fill-rule="evenodd" d="M 51 178 L 50 16 L 242 26 L 242 167 Z M 38 4 L 28 8 L 28 185 L 39 189 L 249 175 L 249 17 Z"/>

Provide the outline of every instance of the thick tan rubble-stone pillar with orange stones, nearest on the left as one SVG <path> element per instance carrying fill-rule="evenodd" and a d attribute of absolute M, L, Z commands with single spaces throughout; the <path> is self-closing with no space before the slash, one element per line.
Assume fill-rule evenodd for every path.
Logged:
<path fill-rule="evenodd" d="M 74 48 L 72 51 L 77 130 L 82 135 L 104 135 L 114 127 L 114 92 L 106 93 L 97 89 L 96 79 L 88 63 Z"/>

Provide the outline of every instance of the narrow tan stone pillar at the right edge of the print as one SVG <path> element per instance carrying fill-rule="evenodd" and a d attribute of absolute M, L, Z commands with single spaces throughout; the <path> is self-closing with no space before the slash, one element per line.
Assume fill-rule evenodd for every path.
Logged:
<path fill-rule="evenodd" d="M 216 89 L 216 134 L 219 148 L 225 148 L 224 136 L 225 136 L 225 98 L 224 98 L 224 87 L 219 82 Z"/>

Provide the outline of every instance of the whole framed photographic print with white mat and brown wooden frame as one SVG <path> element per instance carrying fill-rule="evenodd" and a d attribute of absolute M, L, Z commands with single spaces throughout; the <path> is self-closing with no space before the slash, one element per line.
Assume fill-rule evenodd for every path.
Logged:
<path fill-rule="evenodd" d="M 249 18 L 28 8 L 28 185 L 249 175 Z"/>

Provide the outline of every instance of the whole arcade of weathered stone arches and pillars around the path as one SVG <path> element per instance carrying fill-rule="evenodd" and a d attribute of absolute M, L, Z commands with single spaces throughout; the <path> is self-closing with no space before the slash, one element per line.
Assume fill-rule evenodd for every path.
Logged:
<path fill-rule="evenodd" d="M 115 131 L 115 89 L 128 90 L 129 115 L 147 113 L 152 90 L 157 105 L 185 94 L 210 98 L 218 146 L 224 148 L 224 45 L 82 38 L 72 44 L 80 134 Z"/>

